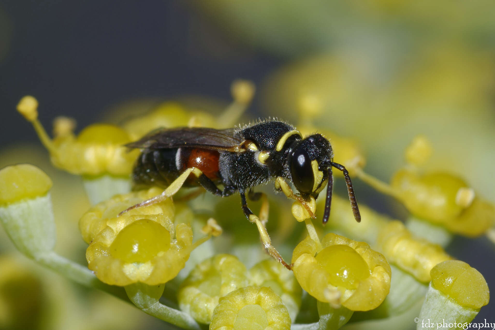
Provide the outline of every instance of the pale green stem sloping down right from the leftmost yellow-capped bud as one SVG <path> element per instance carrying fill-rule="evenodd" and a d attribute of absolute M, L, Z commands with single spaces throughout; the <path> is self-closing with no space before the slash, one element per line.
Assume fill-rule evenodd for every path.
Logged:
<path fill-rule="evenodd" d="M 97 279 L 95 274 L 87 267 L 81 266 L 69 259 L 66 259 L 53 251 L 39 253 L 34 259 L 41 265 L 57 272 L 64 277 L 87 287 L 96 288 L 110 293 L 124 301 L 129 301 L 127 295 L 119 286 L 105 284 Z"/>

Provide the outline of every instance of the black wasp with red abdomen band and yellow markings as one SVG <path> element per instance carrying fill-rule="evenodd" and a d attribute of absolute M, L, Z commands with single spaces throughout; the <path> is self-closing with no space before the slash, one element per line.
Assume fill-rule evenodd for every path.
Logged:
<path fill-rule="evenodd" d="M 202 186 L 222 197 L 239 191 L 243 212 L 249 221 L 256 223 L 265 249 L 288 269 L 291 266 L 272 246 L 263 221 L 247 207 L 246 192 L 250 199 L 260 196 L 252 191 L 253 187 L 275 179 L 275 189 L 299 200 L 308 209 L 304 202 L 310 196 L 316 199 L 327 184 L 323 214 L 326 223 L 332 201 L 332 167 L 335 167 L 344 172 L 354 217 L 357 222 L 361 220 L 349 175 L 344 166 L 333 162 L 330 142 L 320 134 L 302 138 L 293 126 L 281 121 L 267 120 L 225 130 L 159 129 L 127 146 L 143 149 L 133 170 L 134 184 L 167 187 L 162 194 L 131 208 L 164 200 L 182 186 Z M 286 180 L 294 184 L 299 194 L 293 193 Z M 311 211 L 309 214 L 314 217 Z"/>

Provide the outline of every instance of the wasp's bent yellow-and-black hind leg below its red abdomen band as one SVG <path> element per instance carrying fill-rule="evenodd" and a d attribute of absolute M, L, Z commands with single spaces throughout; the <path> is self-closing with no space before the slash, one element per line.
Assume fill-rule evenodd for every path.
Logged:
<path fill-rule="evenodd" d="M 185 170 L 177 179 L 175 179 L 174 182 L 172 182 L 170 186 L 167 187 L 167 189 L 163 190 L 161 194 L 151 197 L 139 204 L 129 207 L 128 209 L 120 212 L 119 216 L 137 207 L 153 205 L 164 201 L 168 197 L 173 196 L 177 191 L 179 191 L 179 189 L 181 189 L 181 187 L 184 185 L 184 183 L 189 178 L 189 175 L 191 175 L 191 173 L 194 174 L 194 176 L 198 180 L 198 183 L 204 189 L 208 190 L 209 192 L 215 195 L 228 196 L 235 191 L 232 187 L 225 187 L 224 191 L 218 189 L 215 183 L 211 181 L 207 176 L 205 176 L 203 172 L 201 172 L 201 170 L 199 170 L 196 167 L 190 167 L 187 170 Z"/>

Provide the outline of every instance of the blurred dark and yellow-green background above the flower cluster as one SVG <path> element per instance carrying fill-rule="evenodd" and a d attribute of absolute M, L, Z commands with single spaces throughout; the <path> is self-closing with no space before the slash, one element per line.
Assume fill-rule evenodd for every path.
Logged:
<path fill-rule="evenodd" d="M 291 97 L 309 89 L 323 99 L 320 124 L 355 137 L 370 173 L 388 180 L 423 133 L 437 151 L 433 166 L 493 202 L 494 9 L 488 0 L 1 0 L 0 147 L 36 143 L 47 161 L 15 111 L 25 94 L 38 98 L 47 130 L 58 115 L 80 129 L 131 100 L 228 102 L 231 82 L 244 78 L 259 90 L 250 117 L 297 122 Z M 22 158 L 12 152 L 2 166 Z M 367 191 L 368 201 L 388 202 Z M 485 237 L 456 237 L 447 251 L 495 285 Z M 493 306 L 475 322 L 495 322 Z"/>

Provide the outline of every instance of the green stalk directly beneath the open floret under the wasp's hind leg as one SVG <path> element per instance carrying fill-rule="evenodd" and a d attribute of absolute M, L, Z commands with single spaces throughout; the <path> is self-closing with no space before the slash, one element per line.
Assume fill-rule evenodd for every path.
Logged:
<path fill-rule="evenodd" d="M 148 285 L 133 283 L 125 287 L 129 299 L 143 312 L 182 329 L 200 330 L 198 323 L 189 315 L 161 304 L 158 299 L 165 284 Z"/>

